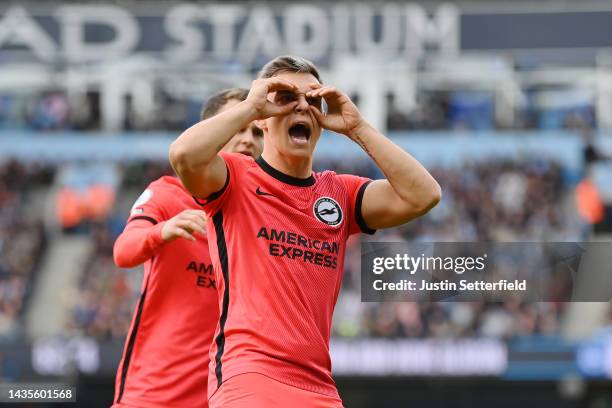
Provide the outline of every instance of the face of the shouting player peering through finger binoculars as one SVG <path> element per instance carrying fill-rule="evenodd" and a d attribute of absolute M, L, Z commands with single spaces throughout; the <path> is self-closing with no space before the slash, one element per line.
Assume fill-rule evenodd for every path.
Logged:
<path fill-rule="evenodd" d="M 307 98 L 311 84 L 319 81 L 307 73 L 283 72 L 277 75 L 297 86 L 297 91 L 271 92 L 268 99 L 278 105 L 297 101 L 297 105 L 286 115 L 266 119 L 262 125 L 267 136 L 266 143 L 271 143 L 281 154 L 293 157 L 311 157 L 319 137 L 321 127 L 312 113 L 311 106 L 321 109 L 321 98 Z"/>

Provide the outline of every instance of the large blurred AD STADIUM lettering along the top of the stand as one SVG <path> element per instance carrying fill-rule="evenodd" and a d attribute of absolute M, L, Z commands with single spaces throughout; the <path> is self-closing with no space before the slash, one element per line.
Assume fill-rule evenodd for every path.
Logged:
<path fill-rule="evenodd" d="M 318 63 L 338 54 L 415 59 L 455 53 L 459 13 L 417 4 L 11 5 L 0 13 L 0 58 L 45 63 L 148 53 L 170 62 L 253 67 L 293 53 Z M 14 53 L 17 51 L 17 53 Z"/>

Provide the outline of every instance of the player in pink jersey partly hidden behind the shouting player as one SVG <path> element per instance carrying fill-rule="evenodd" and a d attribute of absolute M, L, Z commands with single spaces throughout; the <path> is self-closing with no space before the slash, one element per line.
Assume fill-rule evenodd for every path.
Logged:
<path fill-rule="evenodd" d="M 211 97 L 207 119 L 246 98 Z M 245 124 L 225 151 L 258 156 L 261 131 Z M 219 320 L 205 215 L 176 177 L 149 184 L 114 247 L 120 267 L 144 263 L 140 301 L 117 370 L 116 407 L 207 407 L 208 350 Z"/>

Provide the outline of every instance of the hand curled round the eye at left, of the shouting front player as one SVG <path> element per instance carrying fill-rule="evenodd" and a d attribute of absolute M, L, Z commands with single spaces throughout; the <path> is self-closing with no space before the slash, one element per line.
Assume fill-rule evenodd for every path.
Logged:
<path fill-rule="evenodd" d="M 286 105 L 277 105 L 268 100 L 268 94 L 279 90 L 296 91 L 297 87 L 291 82 L 278 77 L 256 79 L 251 83 L 246 103 L 255 111 L 256 119 L 267 119 L 272 116 L 289 113 L 297 105 L 297 101 Z"/>

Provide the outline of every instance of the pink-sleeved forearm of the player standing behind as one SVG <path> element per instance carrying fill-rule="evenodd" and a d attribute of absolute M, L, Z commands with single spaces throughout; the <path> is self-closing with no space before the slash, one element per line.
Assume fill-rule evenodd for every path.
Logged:
<path fill-rule="evenodd" d="M 161 235 L 164 222 L 153 226 L 142 225 L 143 223 L 148 221 L 138 220 L 128 223 L 115 241 L 113 258 L 120 268 L 133 268 L 146 262 L 164 245 Z"/>

